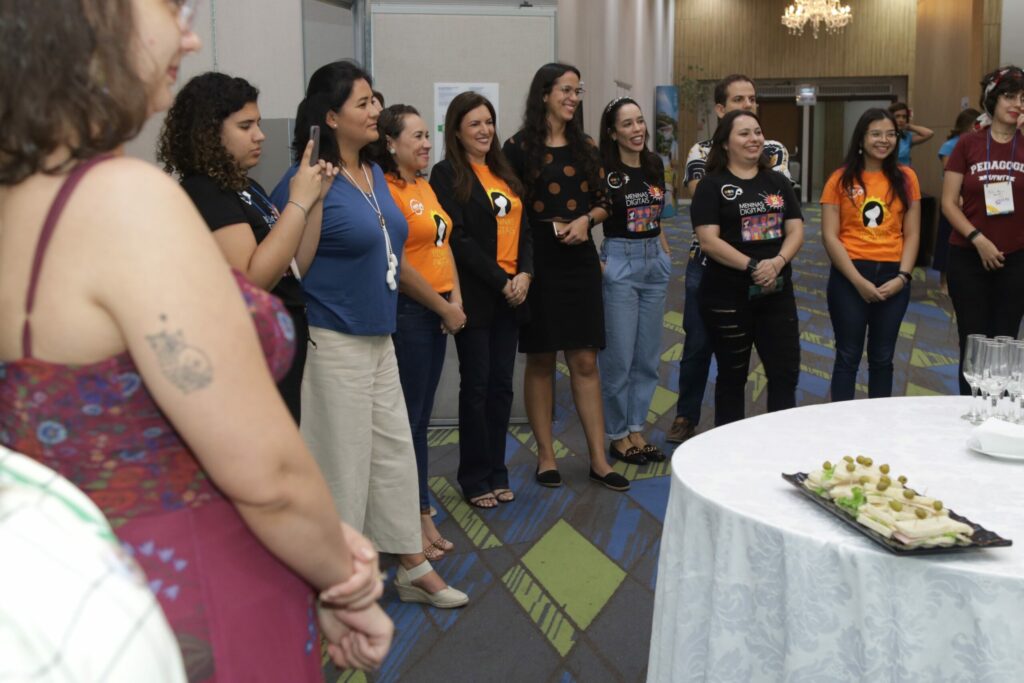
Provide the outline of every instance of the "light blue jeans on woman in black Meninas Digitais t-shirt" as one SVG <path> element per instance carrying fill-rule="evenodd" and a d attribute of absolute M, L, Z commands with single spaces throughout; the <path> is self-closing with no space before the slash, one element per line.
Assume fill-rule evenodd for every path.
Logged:
<path fill-rule="evenodd" d="M 604 262 L 604 338 L 598 353 L 604 431 L 610 439 L 643 430 L 657 386 L 665 296 L 672 260 L 657 238 L 612 238 Z"/>

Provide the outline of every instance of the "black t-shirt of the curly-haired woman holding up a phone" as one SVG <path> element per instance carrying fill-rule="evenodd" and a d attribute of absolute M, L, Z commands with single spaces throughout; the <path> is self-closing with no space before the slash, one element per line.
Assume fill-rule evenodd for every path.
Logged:
<path fill-rule="evenodd" d="M 181 186 L 191 198 L 211 231 L 227 225 L 248 223 L 256 238 L 256 244 L 259 244 L 278 222 L 276 208 L 270 203 L 266 190 L 255 180 L 250 179 L 246 189 L 234 191 L 221 189 L 210 176 L 189 175 L 181 181 Z M 291 268 L 270 292 L 290 308 L 305 305 L 302 286 Z"/>

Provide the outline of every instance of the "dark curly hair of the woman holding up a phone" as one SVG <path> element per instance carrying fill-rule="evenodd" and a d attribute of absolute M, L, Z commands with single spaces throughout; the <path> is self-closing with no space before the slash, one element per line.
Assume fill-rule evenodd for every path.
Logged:
<path fill-rule="evenodd" d="M 206 175 L 221 189 L 245 189 L 246 171 L 224 147 L 224 120 L 259 98 L 244 78 L 200 74 L 181 88 L 160 131 L 157 159 L 179 177 Z"/>

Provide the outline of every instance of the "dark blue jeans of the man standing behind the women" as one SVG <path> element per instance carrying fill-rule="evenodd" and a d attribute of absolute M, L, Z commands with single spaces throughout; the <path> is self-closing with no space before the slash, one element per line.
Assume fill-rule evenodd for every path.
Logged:
<path fill-rule="evenodd" d="M 708 327 L 700 316 L 697 290 L 706 266 L 702 254 L 691 257 L 686 264 L 686 297 L 683 300 L 683 357 L 679 361 L 679 402 L 676 417 L 686 418 L 690 424 L 700 422 L 700 405 L 711 372 L 713 348 Z"/>

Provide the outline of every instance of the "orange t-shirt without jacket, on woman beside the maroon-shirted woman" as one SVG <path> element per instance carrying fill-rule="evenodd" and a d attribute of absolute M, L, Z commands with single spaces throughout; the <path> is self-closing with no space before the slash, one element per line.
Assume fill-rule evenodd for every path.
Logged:
<path fill-rule="evenodd" d="M 906 178 L 907 202 L 921 199 L 918 174 L 900 166 Z M 890 191 L 882 171 L 864 171 L 864 187 L 854 184 L 847 195 L 840 184 L 843 169 L 837 170 L 821 190 L 822 204 L 839 206 L 839 241 L 851 259 L 899 261 L 903 255 L 903 216 L 906 207 Z"/>

